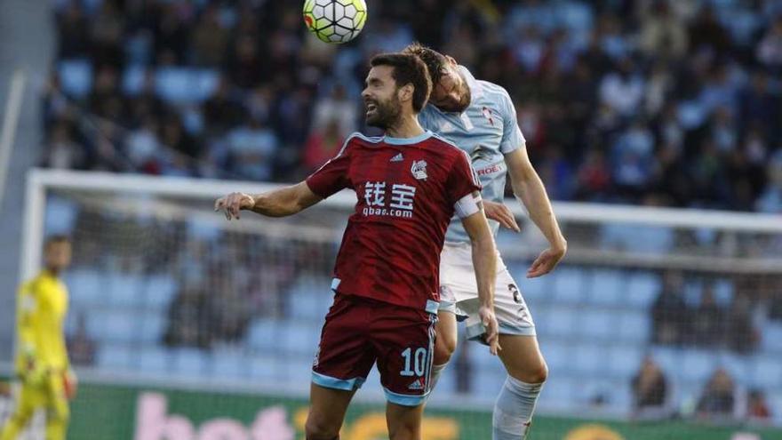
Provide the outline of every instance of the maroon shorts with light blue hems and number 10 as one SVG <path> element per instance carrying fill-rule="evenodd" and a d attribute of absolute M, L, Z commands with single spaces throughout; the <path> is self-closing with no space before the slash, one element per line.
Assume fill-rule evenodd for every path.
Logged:
<path fill-rule="evenodd" d="M 368 298 L 337 294 L 321 332 L 312 381 L 360 388 L 378 363 L 388 402 L 423 404 L 429 394 L 437 316 Z"/>

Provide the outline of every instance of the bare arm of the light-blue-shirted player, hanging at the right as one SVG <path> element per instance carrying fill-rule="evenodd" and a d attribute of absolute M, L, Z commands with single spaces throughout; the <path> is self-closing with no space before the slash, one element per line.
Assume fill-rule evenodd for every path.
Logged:
<path fill-rule="evenodd" d="M 530 218 L 548 240 L 548 249 L 541 252 L 527 271 L 528 278 L 543 276 L 551 272 L 565 256 L 568 243 L 556 221 L 554 209 L 546 194 L 546 187 L 538 172 L 532 167 L 527 148 L 517 148 L 505 155 L 507 172 L 510 175 L 514 195 L 530 212 Z"/>

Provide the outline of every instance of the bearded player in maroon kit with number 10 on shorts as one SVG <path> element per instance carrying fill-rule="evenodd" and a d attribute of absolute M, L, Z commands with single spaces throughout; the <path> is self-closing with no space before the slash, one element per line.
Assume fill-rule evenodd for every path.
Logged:
<path fill-rule="evenodd" d="M 357 203 L 342 237 L 326 316 L 313 364 L 309 440 L 339 438 L 347 404 L 373 364 L 387 396 L 392 440 L 420 439 L 435 343 L 439 261 L 445 230 L 459 215 L 473 245 L 480 316 L 491 352 L 499 345 L 493 311 L 496 252 L 480 203 L 480 185 L 464 152 L 432 132 L 417 115 L 431 81 L 417 57 L 371 60 L 362 96 L 367 124 L 386 135 L 351 135 L 339 154 L 292 187 L 257 196 L 232 193 L 216 210 L 270 217 L 299 212 L 343 188 Z"/>

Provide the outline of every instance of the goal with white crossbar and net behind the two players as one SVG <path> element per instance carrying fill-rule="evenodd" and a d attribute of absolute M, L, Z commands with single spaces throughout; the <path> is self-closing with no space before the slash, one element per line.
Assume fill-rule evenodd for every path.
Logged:
<path fill-rule="evenodd" d="M 303 437 L 331 269 L 355 195 L 279 220 L 243 213 L 229 222 L 212 211 L 217 196 L 269 188 L 30 173 L 22 275 L 36 272 L 45 236 L 74 240 L 66 331 L 83 386 L 71 438 Z M 523 232 L 502 231 L 499 249 L 550 368 L 533 438 L 779 435 L 778 217 L 556 204 L 568 256 L 528 280 L 546 242 L 508 204 Z M 489 438 L 505 378 L 488 349 L 460 343 L 427 406 L 424 438 Z M 385 438 L 375 372 L 356 399 L 342 438 Z"/>

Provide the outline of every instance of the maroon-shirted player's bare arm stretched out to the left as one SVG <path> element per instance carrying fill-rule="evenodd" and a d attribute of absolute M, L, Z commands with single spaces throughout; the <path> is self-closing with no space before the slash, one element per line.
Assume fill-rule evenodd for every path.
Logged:
<path fill-rule="evenodd" d="M 287 217 L 321 200 L 323 199 L 307 186 L 307 182 L 300 182 L 291 187 L 257 195 L 231 193 L 217 199 L 214 210 L 225 212 L 227 220 L 238 220 L 240 211 L 257 212 L 267 217 Z"/>

